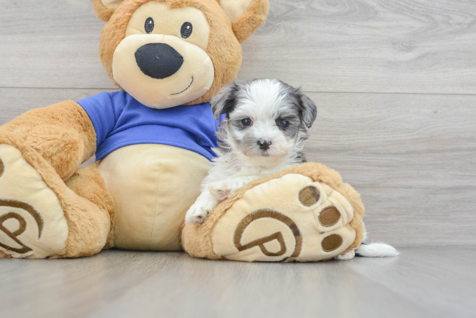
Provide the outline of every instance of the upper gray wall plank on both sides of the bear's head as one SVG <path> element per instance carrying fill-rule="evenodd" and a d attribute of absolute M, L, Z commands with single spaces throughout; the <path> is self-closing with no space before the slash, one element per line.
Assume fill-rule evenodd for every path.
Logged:
<path fill-rule="evenodd" d="M 271 0 L 241 79 L 313 92 L 476 94 L 472 0 Z M 28 3 L 28 4 L 27 4 Z M 88 0 L 0 0 L 0 87 L 115 88 Z"/>

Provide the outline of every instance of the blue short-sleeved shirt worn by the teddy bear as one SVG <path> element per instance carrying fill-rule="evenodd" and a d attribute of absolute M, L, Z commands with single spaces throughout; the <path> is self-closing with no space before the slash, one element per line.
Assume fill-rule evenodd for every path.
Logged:
<path fill-rule="evenodd" d="M 124 146 L 163 144 L 216 156 L 218 122 L 208 103 L 166 109 L 147 107 L 126 92 L 103 92 L 78 101 L 97 135 L 96 160 Z"/>

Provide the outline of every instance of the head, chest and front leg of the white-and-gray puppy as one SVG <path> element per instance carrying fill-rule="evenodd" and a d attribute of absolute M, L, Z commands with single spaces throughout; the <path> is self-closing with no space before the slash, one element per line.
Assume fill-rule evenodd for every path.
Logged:
<path fill-rule="evenodd" d="M 307 129 L 316 104 L 299 88 L 279 80 L 235 81 L 211 101 L 218 119 L 219 157 L 202 183 L 202 193 L 185 223 L 200 225 L 210 211 L 252 180 L 306 162 Z"/>

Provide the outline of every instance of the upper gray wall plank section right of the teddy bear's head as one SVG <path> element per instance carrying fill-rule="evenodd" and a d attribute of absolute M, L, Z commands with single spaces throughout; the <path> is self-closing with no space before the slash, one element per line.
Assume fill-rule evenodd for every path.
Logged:
<path fill-rule="evenodd" d="M 241 78 L 313 92 L 476 94 L 472 0 L 272 0 Z"/>

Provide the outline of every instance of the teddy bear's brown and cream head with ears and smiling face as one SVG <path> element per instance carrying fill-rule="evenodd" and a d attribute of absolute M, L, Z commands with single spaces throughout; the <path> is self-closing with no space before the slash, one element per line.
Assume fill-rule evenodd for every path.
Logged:
<path fill-rule="evenodd" d="M 207 102 L 234 80 L 268 0 L 91 0 L 109 77 L 142 104 Z"/>

